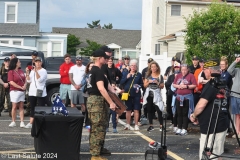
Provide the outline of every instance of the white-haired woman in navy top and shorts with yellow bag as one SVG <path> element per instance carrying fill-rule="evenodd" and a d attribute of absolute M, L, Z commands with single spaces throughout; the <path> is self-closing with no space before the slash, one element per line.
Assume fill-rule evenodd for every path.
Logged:
<path fill-rule="evenodd" d="M 138 127 L 138 119 L 139 119 L 139 110 L 141 109 L 140 99 L 141 99 L 141 91 L 140 89 L 143 87 L 142 74 L 137 71 L 137 60 L 132 59 L 129 63 L 130 71 L 122 72 L 122 79 L 120 84 L 124 87 L 124 93 L 129 92 L 128 100 L 125 101 L 127 108 L 126 111 L 126 119 L 127 125 L 124 128 L 125 130 L 130 129 L 130 121 L 131 121 L 131 111 L 134 110 L 134 122 L 135 127 L 134 130 L 139 130 Z M 132 85 L 131 85 L 132 84 Z"/>

